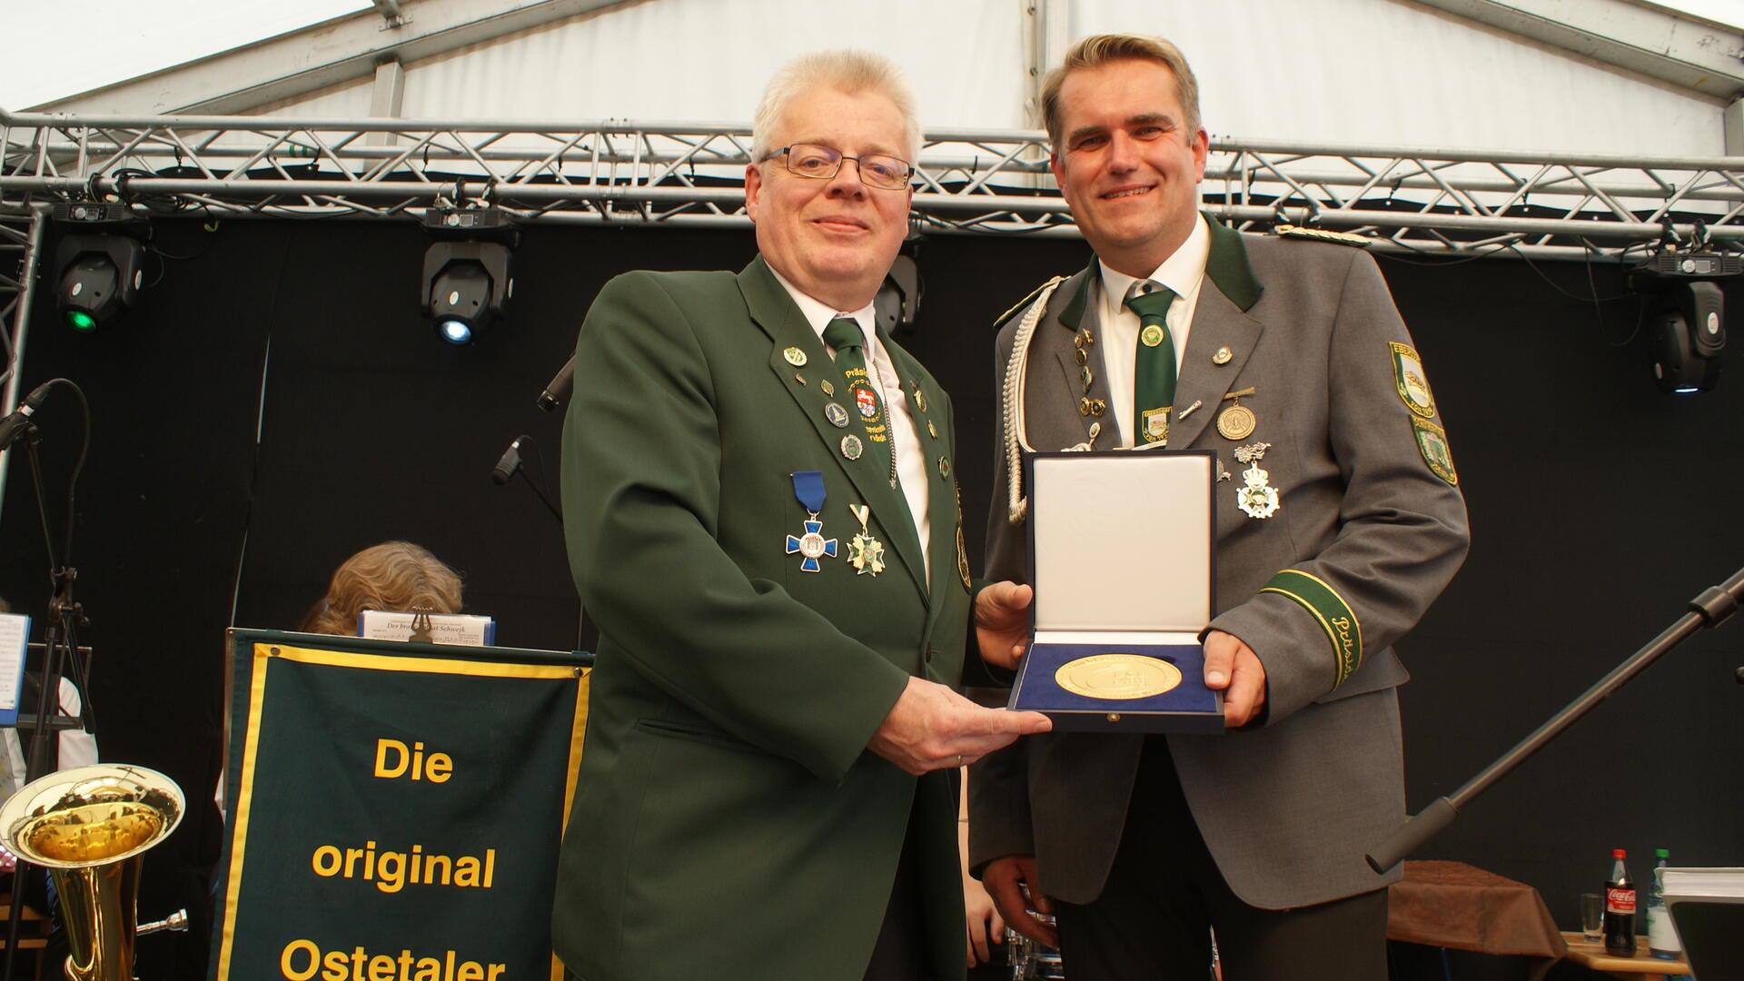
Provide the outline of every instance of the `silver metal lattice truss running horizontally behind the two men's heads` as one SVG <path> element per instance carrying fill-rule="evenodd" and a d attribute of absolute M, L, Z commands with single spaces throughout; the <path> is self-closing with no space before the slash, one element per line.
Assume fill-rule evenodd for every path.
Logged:
<path fill-rule="evenodd" d="M 748 222 L 750 131 L 687 122 L 68 117 L 0 110 L 0 215 L 124 201 L 143 215 L 401 218 L 490 202 L 521 222 Z M 1205 209 L 1383 251 L 1618 257 L 1744 248 L 1744 157 L 1655 159 L 1217 138 Z M 1076 236 L 1039 131 L 928 134 L 921 232 Z"/>

